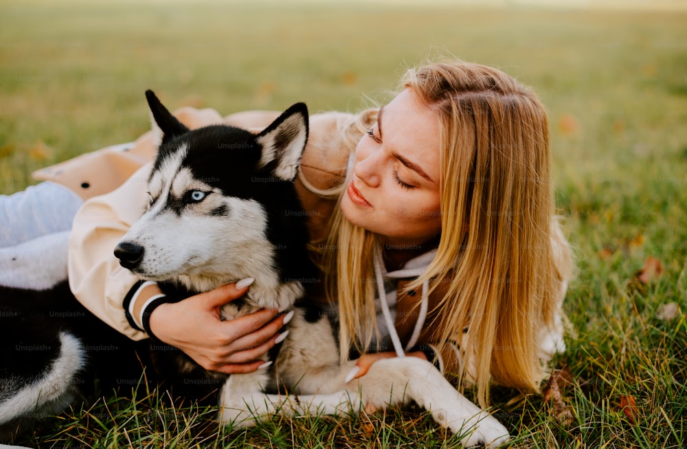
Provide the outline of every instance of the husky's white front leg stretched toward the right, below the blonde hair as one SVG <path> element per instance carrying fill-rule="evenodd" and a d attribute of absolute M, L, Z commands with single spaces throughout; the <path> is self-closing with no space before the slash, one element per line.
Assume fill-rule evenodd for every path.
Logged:
<path fill-rule="evenodd" d="M 461 443 L 467 447 L 497 447 L 508 441 L 508 430 L 495 417 L 458 393 L 431 363 L 420 358 L 377 360 L 348 389 L 358 389 L 364 405 L 374 408 L 413 400 L 430 411 L 436 422 L 464 435 Z"/>

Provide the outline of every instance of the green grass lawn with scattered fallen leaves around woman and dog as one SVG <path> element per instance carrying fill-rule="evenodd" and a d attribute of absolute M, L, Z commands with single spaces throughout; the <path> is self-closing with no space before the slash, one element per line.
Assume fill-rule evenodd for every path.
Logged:
<path fill-rule="evenodd" d="M 496 390 L 513 448 L 679 448 L 687 440 L 687 14 L 249 3 L 0 5 L 0 192 L 148 128 L 145 89 L 223 114 L 355 111 L 433 49 L 502 68 L 550 113 L 556 198 L 578 257 L 555 360 L 572 422 Z M 635 275 L 647 257 L 662 273 Z M 681 312 L 665 320 L 666 303 Z M 155 391 L 47 419 L 40 447 L 458 447 L 413 408 L 218 428 Z M 632 396 L 634 424 L 623 412 Z"/>

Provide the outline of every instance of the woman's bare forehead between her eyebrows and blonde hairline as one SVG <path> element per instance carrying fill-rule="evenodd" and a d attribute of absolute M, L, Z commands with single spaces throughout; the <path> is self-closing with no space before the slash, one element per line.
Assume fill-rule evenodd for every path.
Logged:
<path fill-rule="evenodd" d="M 411 89 L 404 89 L 381 111 L 385 146 L 418 163 L 431 179 L 439 178 L 439 119 Z"/>

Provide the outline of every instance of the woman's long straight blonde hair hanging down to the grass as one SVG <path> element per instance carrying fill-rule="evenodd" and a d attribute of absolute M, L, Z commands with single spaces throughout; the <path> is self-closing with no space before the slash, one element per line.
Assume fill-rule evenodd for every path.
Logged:
<path fill-rule="evenodd" d="M 555 321 L 563 277 L 545 109 L 506 73 L 462 61 L 410 69 L 402 82 L 436 113 L 441 145 L 438 252 L 407 290 L 441 286 L 433 341 L 461 343 L 460 386 L 466 376 L 475 380 L 480 404 L 492 380 L 538 391 L 538 336 Z M 364 350 L 377 333 L 371 280 L 379 242 L 335 210 L 325 273 L 346 358 L 349 345 Z"/>

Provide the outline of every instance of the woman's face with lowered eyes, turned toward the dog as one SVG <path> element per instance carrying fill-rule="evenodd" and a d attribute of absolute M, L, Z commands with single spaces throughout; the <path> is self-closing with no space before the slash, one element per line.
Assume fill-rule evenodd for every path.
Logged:
<path fill-rule="evenodd" d="M 410 89 L 380 109 L 359 141 L 341 211 L 399 249 L 440 232 L 438 119 Z"/>

